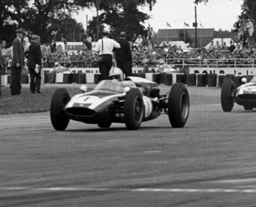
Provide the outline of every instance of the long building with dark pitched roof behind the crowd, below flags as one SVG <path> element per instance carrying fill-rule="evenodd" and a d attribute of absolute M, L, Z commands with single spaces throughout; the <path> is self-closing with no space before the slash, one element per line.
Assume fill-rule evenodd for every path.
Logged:
<path fill-rule="evenodd" d="M 160 45 L 162 41 L 179 41 L 179 31 L 182 29 L 159 29 L 156 35 L 156 43 Z M 185 29 L 192 39 L 191 47 L 195 47 L 195 29 Z M 214 28 L 197 29 L 197 47 L 205 46 L 214 38 Z M 179 45 L 178 45 L 179 46 Z"/>

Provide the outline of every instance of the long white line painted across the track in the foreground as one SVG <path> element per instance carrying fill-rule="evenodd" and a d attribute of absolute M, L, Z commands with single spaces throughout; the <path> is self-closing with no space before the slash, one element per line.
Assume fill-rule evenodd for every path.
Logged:
<path fill-rule="evenodd" d="M 186 188 L 82 188 L 82 187 L 0 187 L 0 190 L 8 191 L 126 191 L 126 192 L 164 192 L 164 193 L 256 193 L 256 189 L 186 189 Z"/>

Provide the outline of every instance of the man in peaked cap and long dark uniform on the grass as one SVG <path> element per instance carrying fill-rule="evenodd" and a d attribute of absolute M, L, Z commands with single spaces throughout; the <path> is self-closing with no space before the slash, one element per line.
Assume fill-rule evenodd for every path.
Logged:
<path fill-rule="evenodd" d="M 17 29 L 17 37 L 13 41 L 13 59 L 11 69 L 11 94 L 21 93 L 21 69 L 24 66 L 24 47 L 22 44 L 23 30 Z"/>

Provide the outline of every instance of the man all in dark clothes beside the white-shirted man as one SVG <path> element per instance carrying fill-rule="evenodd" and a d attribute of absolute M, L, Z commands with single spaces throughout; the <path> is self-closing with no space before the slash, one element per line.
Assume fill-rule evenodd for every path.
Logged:
<path fill-rule="evenodd" d="M 125 77 L 132 76 L 132 52 L 130 44 L 126 39 L 126 32 L 120 32 L 120 39 L 117 41 L 120 48 L 114 48 L 117 68 L 120 68 Z"/>

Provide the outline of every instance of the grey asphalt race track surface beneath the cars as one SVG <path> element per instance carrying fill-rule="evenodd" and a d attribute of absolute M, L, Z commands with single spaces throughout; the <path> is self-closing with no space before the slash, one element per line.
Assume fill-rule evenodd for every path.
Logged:
<path fill-rule="evenodd" d="M 182 129 L 166 115 L 63 132 L 49 113 L 2 115 L 0 206 L 255 206 L 256 110 L 224 113 L 219 88 L 188 90 Z"/>

